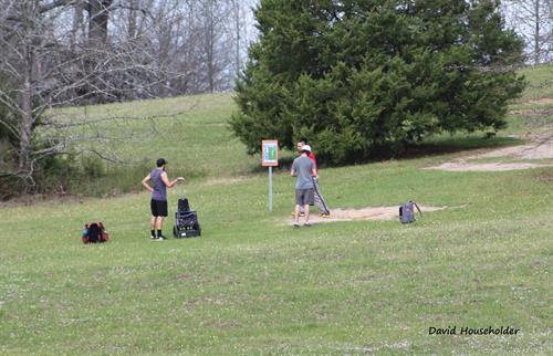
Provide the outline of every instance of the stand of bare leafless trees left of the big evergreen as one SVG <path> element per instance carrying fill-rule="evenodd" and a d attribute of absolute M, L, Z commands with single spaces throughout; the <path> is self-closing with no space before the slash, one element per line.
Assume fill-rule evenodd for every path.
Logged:
<path fill-rule="evenodd" d="M 22 180 L 75 140 L 105 139 L 74 134 L 90 117 L 55 117 L 58 107 L 225 91 L 244 55 L 239 1 L 0 0 L 0 176 Z"/>

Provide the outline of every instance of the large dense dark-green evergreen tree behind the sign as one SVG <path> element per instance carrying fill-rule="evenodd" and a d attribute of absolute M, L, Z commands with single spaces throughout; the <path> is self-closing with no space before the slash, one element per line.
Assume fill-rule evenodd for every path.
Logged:
<path fill-rule="evenodd" d="M 306 137 L 340 164 L 439 132 L 500 129 L 522 41 L 492 0 L 262 0 L 231 128 L 259 150 Z"/>

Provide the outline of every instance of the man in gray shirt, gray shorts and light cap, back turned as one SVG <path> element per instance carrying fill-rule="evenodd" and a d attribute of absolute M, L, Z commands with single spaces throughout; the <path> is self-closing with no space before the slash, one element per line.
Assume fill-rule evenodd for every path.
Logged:
<path fill-rule="evenodd" d="M 301 156 L 294 159 L 290 175 L 296 177 L 295 180 L 295 210 L 294 210 L 294 228 L 300 227 L 300 207 L 304 207 L 305 211 L 305 227 L 311 227 L 310 223 L 310 206 L 315 201 L 315 190 L 313 179 L 316 177 L 316 169 L 313 160 L 309 158 L 311 147 L 304 145 L 302 147 Z"/>

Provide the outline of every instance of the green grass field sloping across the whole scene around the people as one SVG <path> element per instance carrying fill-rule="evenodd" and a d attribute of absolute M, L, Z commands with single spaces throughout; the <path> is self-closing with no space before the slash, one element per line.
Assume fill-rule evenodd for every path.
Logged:
<path fill-rule="evenodd" d="M 533 85 L 551 83 L 551 70 L 526 75 Z M 547 97 L 551 87 L 531 86 L 513 109 Z M 146 192 L 2 203 L 0 354 L 553 353 L 553 168 L 421 169 L 468 149 L 522 143 L 509 135 L 535 127 L 524 115 L 511 114 L 511 127 L 491 139 L 440 136 L 409 159 L 321 171 L 331 208 L 415 199 L 448 209 L 409 226 L 354 221 L 294 230 L 288 224 L 294 180 L 276 170 L 270 213 L 265 170 L 227 129 L 230 95 L 91 112 L 166 109 L 187 113 L 158 122 L 163 138 L 122 140 L 117 154 L 131 163 L 132 177 L 108 167 L 102 184 L 134 182 L 138 191 L 150 161 L 165 156 L 169 176 L 192 172 L 170 192 L 169 213 L 188 196 L 202 237 L 149 241 Z M 538 129 L 551 128 L 551 115 L 541 119 Z M 132 125 L 149 133 L 148 122 Z M 93 220 L 104 221 L 112 241 L 82 244 L 82 226 Z M 430 327 L 449 326 L 458 334 L 489 326 L 520 332 L 429 335 Z"/>

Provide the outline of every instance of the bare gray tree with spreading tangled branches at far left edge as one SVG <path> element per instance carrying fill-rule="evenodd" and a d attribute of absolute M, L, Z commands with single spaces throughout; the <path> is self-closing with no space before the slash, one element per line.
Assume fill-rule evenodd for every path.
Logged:
<path fill-rule="evenodd" d="M 81 4 L 0 1 L 4 9 L 0 44 L 6 49 L 0 61 L 0 105 L 4 108 L 0 126 L 7 133 L 4 142 L 9 138 L 12 146 L 6 156 L 15 163 L 4 163 L 2 176 L 32 180 L 38 161 L 83 139 L 82 135 L 44 135 L 50 128 L 61 132 L 64 127 L 52 117 L 56 107 L 156 97 L 159 83 L 173 75 L 157 66 L 142 43 L 107 41 L 112 1 L 87 2 L 88 41 L 77 42 Z M 64 31 L 59 23 L 65 22 L 70 11 L 77 20 Z"/>

